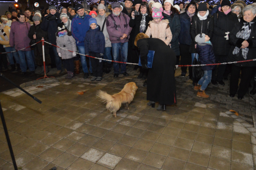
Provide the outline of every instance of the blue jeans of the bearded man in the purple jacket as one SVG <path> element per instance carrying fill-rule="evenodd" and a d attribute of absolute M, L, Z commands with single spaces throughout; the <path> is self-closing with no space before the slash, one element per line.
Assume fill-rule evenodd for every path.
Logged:
<path fill-rule="evenodd" d="M 127 53 L 128 53 L 128 42 L 126 43 L 113 43 L 112 45 L 112 53 L 114 61 L 118 61 L 119 51 L 121 50 L 122 60 L 119 62 L 127 62 Z M 118 63 L 113 63 L 114 73 L 119 73 L 119 65 Z M 121 64 L 121 72 L 126 72 L 126 64 Z"/>

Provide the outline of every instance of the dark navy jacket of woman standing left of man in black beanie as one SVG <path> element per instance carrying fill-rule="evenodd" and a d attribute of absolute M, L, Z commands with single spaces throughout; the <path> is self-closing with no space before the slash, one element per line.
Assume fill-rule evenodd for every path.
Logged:
<path fill-rule="evenodd" d="M 179 35 L 179 43 L 190 46 L 192 42 L 192 39 L 189 33 L 191 22 L 186 12 L 180 14 L 180 22 L 181 22 L 181 33 Z"/>

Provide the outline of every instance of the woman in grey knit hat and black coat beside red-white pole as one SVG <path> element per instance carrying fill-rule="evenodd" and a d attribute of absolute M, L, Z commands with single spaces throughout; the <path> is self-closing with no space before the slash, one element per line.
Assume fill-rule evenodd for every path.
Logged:
<path fill-rule="evenodd" d="M 33 19 L 36 18 L 35 16 Z M 35 23 L 33 26 L 30 27 L 29 32 L 28 32 L 28 37 L 30 39 L 35 39 L 35 42 L 38 43 L 39 41 L 42 40 L 42 37 L 44 38 L 45 41 L 48 41 L 48 33 L 47 31 L 44 31 L 41 29 L 41 20 L 35 20 Z M 35 64 L 38 66 L 43 66 L 43 48 L 42 48 L 42 42 L 38 43 L 34 47 L 34 55 L 35 55 Z M 48 65 L 51 64 L 51 57 L 49 55 L 49 48 L 48 44 L 44 43 L 44 57 L 45 57 L 45 69 L 46 73 L 49 72 L 48 70 Z M 42 71 L 40 73 L 44 72 L 44 67 L 42 67 Z"/>

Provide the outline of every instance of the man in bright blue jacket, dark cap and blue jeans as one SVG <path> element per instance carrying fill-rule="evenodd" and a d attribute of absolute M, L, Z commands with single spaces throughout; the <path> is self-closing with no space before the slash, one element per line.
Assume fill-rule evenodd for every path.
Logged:
<path fill-rule="evenodd" d="M 72 19 L 72 22 L 71 22 L 71 32 L 72 32 L 72 36 L 75 38 L 75 43 L 79 50 L 79 53 L 85 54 L 84 39 L 85 39 L 86 32 L 90 28 L 89 19 L 91 18 L 91 16 L 85 14 L 84 6 L 82 4 L 76 4 L 75 11 L 76 11 L 76 16 Z M 85 60 L 86 57 L 84 55 L 80 55 L 80 57 L 81 57 L 81 64 L 83 67 L 83 71 L 84 71 L 84 79 L 87 79 L 89 74 L 88 74 L 87 63 Z M 90 67 L 91 67 L 91 64 L 90 64 Z M 90 68 L 90 71 L 91 71 L 91 68 Z"/>

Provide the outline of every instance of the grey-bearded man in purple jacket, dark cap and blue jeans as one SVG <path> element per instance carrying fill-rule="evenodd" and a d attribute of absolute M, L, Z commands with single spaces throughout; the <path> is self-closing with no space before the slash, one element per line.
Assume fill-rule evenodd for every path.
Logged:
<path fill-rule="evenodd" d="M 106 28 L 109 33 L 109 39 L 112 45 L 112 53 L 114 61 L 118 61 L 119 51 L 121 50 L 122 61 L 127 62 L 128 41 L 131 33 L 129 27 L 130 17 L 121 12 L 121 5 L 119 2 L 112 4 L 112 14 L 106 19 Z M 119 65 L 113 63 L 114 77 L 118 77 Z M 121 74 L 129 75 L 126 72 L 126 64 L 121 64 Z"/>

